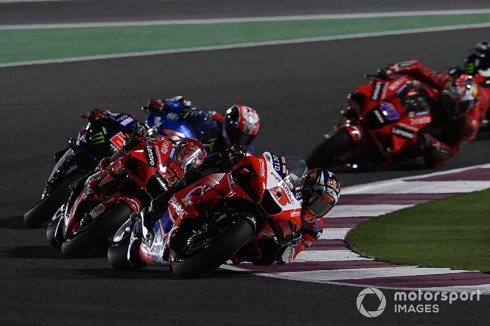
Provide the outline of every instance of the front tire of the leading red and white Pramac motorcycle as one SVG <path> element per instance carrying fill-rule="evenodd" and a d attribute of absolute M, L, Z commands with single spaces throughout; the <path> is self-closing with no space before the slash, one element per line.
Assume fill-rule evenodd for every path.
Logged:
<path fill-rule="evenodd" d="M 189 254 L 191 242 L 185 246 L 172 262 L 172 272 L 181 279 L 194 278 L 197 275 L 216 269 L 230 259 L 253 236 L 254 229 L 249 222 L 239 219 L 219 237 L 209 241 L 204 249 Z"/>

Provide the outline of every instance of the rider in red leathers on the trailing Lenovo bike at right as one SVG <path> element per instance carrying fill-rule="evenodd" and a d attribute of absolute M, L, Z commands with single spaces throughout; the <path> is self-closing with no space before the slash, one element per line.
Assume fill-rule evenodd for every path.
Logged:
<path fill-rule="evenodd" d="M 435 120 L 439 119 L 441 132 L 419 135 L 419 151 L 430 166 L 441 164 L 475 138 L 487 112 L 489 95 L 472 76 L 463 74 L 452 77 L 437 73 L 417 60 L 390 64 L 383 71 L 388 76 L 410 75 L 441 92 L 429 99 L 437 103 L 431 108 L 431 113 Z"/>

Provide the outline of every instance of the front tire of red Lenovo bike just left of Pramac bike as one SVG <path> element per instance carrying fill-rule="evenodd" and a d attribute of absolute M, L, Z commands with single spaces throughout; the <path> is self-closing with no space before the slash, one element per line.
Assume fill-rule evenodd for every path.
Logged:
<path fill-rule="evenodd" d="M 114 235 L 133 212 L 124 202 L 119 202 L 102 214 L 80 233 L 67 237 L 61 245 L 65 257 L 77 258 Z"/>

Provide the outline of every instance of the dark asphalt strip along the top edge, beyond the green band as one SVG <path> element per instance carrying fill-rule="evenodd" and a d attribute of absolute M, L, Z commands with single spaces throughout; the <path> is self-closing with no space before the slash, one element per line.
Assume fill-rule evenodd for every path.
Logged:
<path fill-rule="evenodd" d="M 123 22 L 487 8 L 485 0 L 0 0 L 0 24 Z"/>

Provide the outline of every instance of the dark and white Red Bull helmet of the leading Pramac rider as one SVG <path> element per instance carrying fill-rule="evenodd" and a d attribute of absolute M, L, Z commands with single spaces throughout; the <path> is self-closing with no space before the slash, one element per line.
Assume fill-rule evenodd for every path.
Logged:
<path fill-rule="evenodd" d="M 303 186 L 303 209 L 316 217 L 323 217 L 337 203 L 340 197 L 340 183 L 325 169 L 310 170 Z"/>

